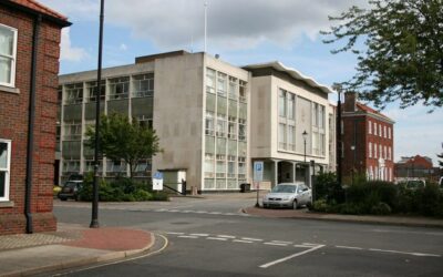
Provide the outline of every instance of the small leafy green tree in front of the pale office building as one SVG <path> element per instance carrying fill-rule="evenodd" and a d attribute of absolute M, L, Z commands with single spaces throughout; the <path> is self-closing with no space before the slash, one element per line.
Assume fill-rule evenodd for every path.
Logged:
<path fill-rule="evenodd" d="M 161 152 L 155 130 L 141 125 L 124 114 L 102 115 L 100 124 L 99 154 L 112 161 L 125 161 L 130 165 L 130 177 L 141 160 Z M 95 150 L 95 129 L 86 130 L 86 146 Z"/>

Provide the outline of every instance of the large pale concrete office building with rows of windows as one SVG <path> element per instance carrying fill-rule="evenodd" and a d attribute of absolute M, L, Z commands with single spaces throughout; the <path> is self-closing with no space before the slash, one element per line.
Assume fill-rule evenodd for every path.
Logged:
<path fill-rule="evenodd" d="M 159 137 L 163 152 L 137 165 L 136 177 L 161 171 L 171 185 L 183 178 L 202 192 L 238 191 L 253 182 L 254 161 L 266 162 L 266 185 L 305 179 L 305 156 L 317 168 L 328 166 L 330 91 L 280 63 L 238 68 L 175 51 L 140 57 L 102 75 L 102 111 L 145 122 Z M 84 131 L 95 120 L 95 80 L 96 71 L 59 79 L 62 178 L 93 171 Z M 106 158 L 100 168 L 104 177 L 128 172 Z"/>

